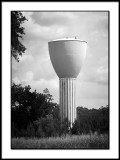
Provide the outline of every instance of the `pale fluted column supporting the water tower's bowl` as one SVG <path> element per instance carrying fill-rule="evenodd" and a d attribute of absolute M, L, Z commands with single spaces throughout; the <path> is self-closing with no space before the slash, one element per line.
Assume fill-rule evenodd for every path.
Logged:
<path fill-rule="evenodd" d="M 76 78 L 60 78 L 60 115 L 63 122 L 67 118 L 72 127 L 72 123 L 76 119 L 76 106 L 75 106 L 75 82 Z"/>

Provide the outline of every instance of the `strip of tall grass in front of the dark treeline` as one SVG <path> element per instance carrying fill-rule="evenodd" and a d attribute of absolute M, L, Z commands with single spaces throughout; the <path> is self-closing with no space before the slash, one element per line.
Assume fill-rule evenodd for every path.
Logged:
<path fill-rule="evenodd" d="M 12 149 L 109 149 L 108 135 L 12 138 Z"/>

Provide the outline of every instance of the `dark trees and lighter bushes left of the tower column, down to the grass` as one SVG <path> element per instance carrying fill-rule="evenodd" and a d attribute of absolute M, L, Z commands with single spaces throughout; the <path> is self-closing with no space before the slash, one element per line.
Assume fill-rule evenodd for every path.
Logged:
<path fill-rule="evenodd" d="M 12 84 L 11 87 L 11 123 L 12 136 L 49 137 L 58 134 L 59 107 L 52 103 L 47 89 L 44 94 L 30 91 L 30 86 Z M 47 96 L 46 96 L 47 94 Z M 16 127 L 15 127 L 16 126 Z M 15 132 L 19 130 L 19 133 Z"/>

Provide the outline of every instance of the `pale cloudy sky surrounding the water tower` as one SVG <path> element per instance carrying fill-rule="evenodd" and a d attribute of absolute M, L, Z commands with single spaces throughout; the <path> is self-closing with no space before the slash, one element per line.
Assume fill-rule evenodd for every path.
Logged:
<path fill-rule="evenodd" d="M 20 62 L 12 59 L 12 81 L 42 93 L 48 88 L 59 103 L 59 78 L 50 61 L 48 42 L 77 37 L 87 41 L 87 57 L 76 80 L 77 106 L 108 104 L 108 12 L 24 12 L 28 21 Z"/>

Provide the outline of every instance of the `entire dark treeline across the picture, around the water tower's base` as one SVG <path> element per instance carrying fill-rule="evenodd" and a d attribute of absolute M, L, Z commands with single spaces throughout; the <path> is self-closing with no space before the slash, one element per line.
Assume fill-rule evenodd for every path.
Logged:
<path fill-rule="evenodd" d="M 70 128 L 67 119 L 61 123 L 60 107 L 46 88 L 43 93 L 31 92 L 30 86 L 11 86 L 11 136 L 51 137 L 109 131 L 109 107 L 98 110 L 77 108 L 77 120 Z"/>

